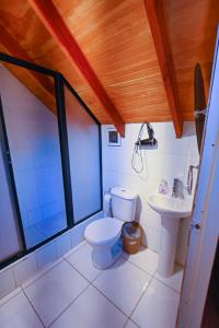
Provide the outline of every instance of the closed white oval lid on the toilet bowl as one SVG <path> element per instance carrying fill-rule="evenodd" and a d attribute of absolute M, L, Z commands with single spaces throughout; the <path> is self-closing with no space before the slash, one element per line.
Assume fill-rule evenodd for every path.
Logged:
<path fill-rule="evenodd" d="M 104 218 L 90 223 L 84 232 L 88 241 L 95 244 L 107 243 L 120 234 L 123 222 L 115 218 Z"/>

